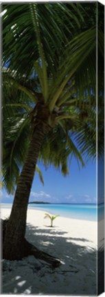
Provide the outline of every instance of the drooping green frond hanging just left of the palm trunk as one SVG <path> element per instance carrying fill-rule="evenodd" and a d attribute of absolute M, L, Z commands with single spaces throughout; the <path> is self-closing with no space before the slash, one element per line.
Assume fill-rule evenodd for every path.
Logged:
<path fill-rule="evenodd" d="M 7 119 L 3 124 L 2 173 L 3 184 L 8 193 L 14 192 L 30 140 L 29 119 L 19 120 Z"/>

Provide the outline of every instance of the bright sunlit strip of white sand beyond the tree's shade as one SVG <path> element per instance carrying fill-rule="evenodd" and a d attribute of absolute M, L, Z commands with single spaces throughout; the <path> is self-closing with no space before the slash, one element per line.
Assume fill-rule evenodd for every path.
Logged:
<path fill-rule="evenodd" d="M 1 219 L 8 218 L 10 216 L 11 208 L 1 208 Z M 50 228 L 50 219 L 44 219 L 45 210 L 39 210 L 36 208 L 27 209 L 27 226 L 33 225 L 34 228 L 43 229 L 49 228 L 49 230 L 60 230 L 60 232 L 68 234 L 72 238 L 78 234 L 80 238 L 80 245 L 86 245 L 89 242 L 90 248 L 97 248 L 97 221 L 88 221 L 84 219 L 74 219 L 68 217 L 57 217 L 54 220 L 54 227 Z M 48 230 L 47 230 L 48 231 Z M 26 231 L 27 233 L 27 231 Z M 82 239 L 88 239 L 88 241 L 82 241 Z"/>

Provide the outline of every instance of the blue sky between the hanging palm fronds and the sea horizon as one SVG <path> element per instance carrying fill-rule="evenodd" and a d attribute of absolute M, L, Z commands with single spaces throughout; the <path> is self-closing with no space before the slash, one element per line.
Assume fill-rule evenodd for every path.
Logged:
<path fill-rule="evenodd" d="M 30 201 L 47 201 L 51 203 L 95 203 L 96 201 L 96 163 L 88 162 L 79 170 L 73 158 L 70 175 L 62 176 L 59 170 L 51 166 L 45 170 L 38 164 L 43 173 L 44 186 L 36 173 L 30 195 Z M 1 193 L 2 203 L 12 203 L 13 197 L 5 190 Z"/>

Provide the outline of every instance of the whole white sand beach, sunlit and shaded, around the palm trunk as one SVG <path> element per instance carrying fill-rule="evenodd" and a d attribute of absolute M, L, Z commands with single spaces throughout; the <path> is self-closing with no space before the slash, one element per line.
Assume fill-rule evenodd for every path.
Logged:
<path fill-rule="evenodd" d="M 9 215 L 9 208 L 1 208 L 1 219 Z M 28 209 L 26 238 L 62 264 L 52 269 L 34 256 L 3 259 L 3 294 L 96 295 L 97 223 L 58 217 L 51 228 L 44 216 Z"/>

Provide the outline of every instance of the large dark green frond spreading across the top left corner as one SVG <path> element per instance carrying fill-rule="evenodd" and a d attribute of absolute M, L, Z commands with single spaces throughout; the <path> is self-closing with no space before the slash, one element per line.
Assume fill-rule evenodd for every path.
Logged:
<path fill-rule="evenodd" d="M 81 15 L 82 19 L 82 10 L 80 11 L 80 7 L 73 3 L 69 7 L 65 3 L 18 3 L 18 5 L 9 3 L 9 5 L 3 4 L 2 8 L 3 11 L 5 10 L 2 17 L 3 63 L 4 65 L 9 63 L 10 71 L 16 70 L 16 77 L 32 74 L 34 63 L 40 57 L 39 50 L 42 54 L 40 45 L 43 45 L 49 68 L 54 69 L 52 61 L 54 61 L 55 49 L 58 54 L 62 53 L 67 43 L 65 32 L 69 32 L 71 36 L 75 26 L 80 27 L 78 16 L 80 18 Z M 77 8 L 76 12 L 75 8 Z M 36 34 L 38 40 L 41 36 L 41 44 L 37 42 Z"/>

